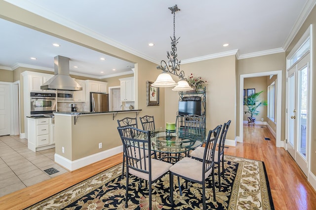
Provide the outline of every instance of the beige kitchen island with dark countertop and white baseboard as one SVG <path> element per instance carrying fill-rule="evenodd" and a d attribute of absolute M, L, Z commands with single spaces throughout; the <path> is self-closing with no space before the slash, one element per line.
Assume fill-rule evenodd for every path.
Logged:
<path fill-rule="evenodd" d="M 74 171 L 122 152 L 117 120 L 140 112 L 54 112 L 55 162 Z"/>

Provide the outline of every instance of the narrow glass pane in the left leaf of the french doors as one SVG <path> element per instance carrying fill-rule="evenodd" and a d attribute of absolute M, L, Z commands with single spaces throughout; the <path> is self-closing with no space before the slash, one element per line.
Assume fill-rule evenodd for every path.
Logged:
<path fill-rule="evenodd" d="M 290 116 L 293 114 L 293 110 L 295 110 L 295 77 L 292 74 L 289 77 L 289 137 L 288 142 L 294 147 L 294 134 L 295 134 L 295 120 L 290 119 Z"/>

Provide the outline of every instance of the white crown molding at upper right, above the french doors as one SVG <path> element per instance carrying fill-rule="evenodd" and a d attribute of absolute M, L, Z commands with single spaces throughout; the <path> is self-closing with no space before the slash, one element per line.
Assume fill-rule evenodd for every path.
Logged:
<path fill-rule="evenodd" d="M 289 33 L 289 35 L 285 39 L 285 42 L 284 42 L 283 47 L 282 47 L 283 49 L 286 50 L 288 48 L 288 46 L 291 44 L 291 42 L 293 41 L 297 32 L 300 30 L 300 28 L 302 27 L 303 23 L 306 21 L 307 17 L 311 13 L 311 11 L 315 5 L 316 5 L 316 0 L 307 0 L 299 18 L 296 20 L 291 32 Z"/>

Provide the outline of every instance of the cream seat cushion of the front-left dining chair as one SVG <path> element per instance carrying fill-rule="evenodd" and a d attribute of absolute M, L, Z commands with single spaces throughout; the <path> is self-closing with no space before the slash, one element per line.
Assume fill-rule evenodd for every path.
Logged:
<path fill-rule="evenodd" d="M 149 170 L 149 162 L 148 162 L 148 157 L 145 158 L 146 159 L 146 169 L 147 171 Z M 137 164 L 139 165 L 140 161 L 137 162 Z M 142 160 L 142 169 L 145 169 L 145 161 Z M 154 180 L 157 180 L 159 177 L 161 177 L 163 174 L 167 173 L 169 171 L 169 168 L 172 166 L 171 163 L 167 163 L 167 162 L 164 162 L 164 161 L 161 161 L 161 160 L 157 160 L 157 159 L 153 159 L 152 158 L 152 181 Z M 144 180 L 148 180 L 149 181 L 149 175 L 146 174 L 146 173 L 143 173 L 143 172 L 139 172 L 139 171 L 136 171 L 134 169 L 129 169 L 129 173 L 136 176 L 136 177 L 139 177 L 141 179 L 144 179 Z"/>

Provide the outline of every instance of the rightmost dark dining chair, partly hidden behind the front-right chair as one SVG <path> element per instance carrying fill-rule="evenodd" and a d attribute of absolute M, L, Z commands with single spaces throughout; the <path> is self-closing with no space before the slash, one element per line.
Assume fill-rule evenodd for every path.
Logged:
<path fill-rule="evenodd" d="M 228 128 L 231 124 L 232 120 L 228 120 L 224 123 L 223 129 L 219 138 L 218 143 L 218 150 L 215 150 L 215 156 L 214 156 L 214 163 L 218 165 L 218 188 L 221 190 L 221 175 L 224 179 L 225 175 L 225 167 L 224 167 L 224 149 L 225 149 L 225 140 L 226 140 L 226 134 L 228 132 Z M 203 159 L 203 152 L 205 148 L 204 147 L 198 147 L 195 150 L 193 150 L 190 154 L 191 157 L 202 160 Z M 222 170 L 220 167 L 220 163 L 222 162 Z"/>

